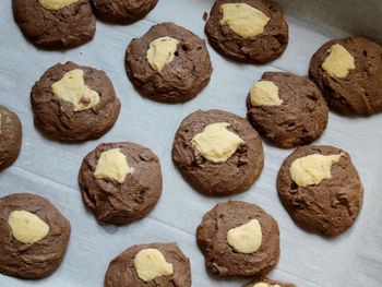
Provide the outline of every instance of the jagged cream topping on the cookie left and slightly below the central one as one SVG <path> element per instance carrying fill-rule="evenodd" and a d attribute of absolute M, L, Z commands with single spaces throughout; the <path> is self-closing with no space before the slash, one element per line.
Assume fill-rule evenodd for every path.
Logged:
<path fill-rule="evenodd" d="M 127 156 L 120 148 L 111 148 L 100 154 L 94 177 L 97 179 L 111 179 L 123 183 L 126 176 L 132 174 L 134 168 L 129 166 Z"/>

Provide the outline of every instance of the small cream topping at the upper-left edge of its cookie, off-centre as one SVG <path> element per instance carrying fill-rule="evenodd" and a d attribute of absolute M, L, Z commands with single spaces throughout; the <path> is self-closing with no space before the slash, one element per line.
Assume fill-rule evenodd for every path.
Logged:
<path fill-rule="evenodd" d="M 280 106 L 284 101 L 278 96 L 278 86 L 271 81 L 259 81 L 250 91 L 251 104 L 258 106 Z"/>

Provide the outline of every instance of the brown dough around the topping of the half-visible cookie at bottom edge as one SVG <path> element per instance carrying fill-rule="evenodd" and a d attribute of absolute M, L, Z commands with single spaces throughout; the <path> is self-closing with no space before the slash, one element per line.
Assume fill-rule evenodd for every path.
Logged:
<path fill-rule="evenodd" d="M 158 276 L 155 276 L 155 278 L 145 282 L 140 277 L 140 274 L 136 271 L 136 259 L 141 251 L 153 249 L 162 253 L 165 262 L 162 261 L 160 263 L 165 263 L 166 271 L 169 272 L 165 273 L 164 275 L 157 274 Z M 172 266 L 169 267 L 168 264 L 171 264 Z M 152 266 L 154 264 L 152 264 Z M 142 271 L 145 272 L 146 270 L 143 268 Z M 105 287 L 120 286 L 191 287 L 190 260 L 186 258 L 183 252 L 175 243 L 150 243 L 133 246 L 110 262 L 109 268 L 107 270 L 105 276 Z"/>

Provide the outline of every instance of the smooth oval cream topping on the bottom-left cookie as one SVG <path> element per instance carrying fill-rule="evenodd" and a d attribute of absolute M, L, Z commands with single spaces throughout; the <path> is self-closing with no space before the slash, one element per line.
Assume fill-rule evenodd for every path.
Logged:
<path fill-rule="evenodd" d="M 14 211 L 8 217 L 13 237 L 25 244 L 33 244 L 49 234 L 47 225 L 37 215 L 26 211 Z"/>

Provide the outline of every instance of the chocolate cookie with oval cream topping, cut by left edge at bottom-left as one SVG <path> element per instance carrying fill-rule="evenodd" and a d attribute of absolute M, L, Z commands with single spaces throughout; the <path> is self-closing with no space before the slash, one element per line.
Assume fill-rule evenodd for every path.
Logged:
<path fill-rule="evenodd" d="M 70 224 L 46 199 L 15 193 L 0 198 L 0 273 L 37 279 L 61 264 Z"/>

